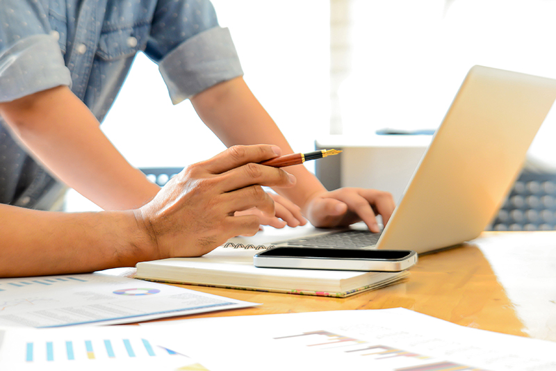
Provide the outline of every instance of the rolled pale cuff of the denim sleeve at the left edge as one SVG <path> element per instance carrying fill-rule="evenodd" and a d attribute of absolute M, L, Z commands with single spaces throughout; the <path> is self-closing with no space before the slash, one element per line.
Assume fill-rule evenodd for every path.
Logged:
<path fill-rule="evenodd" d="M 51 35 L 33 35 L 0 54 L 0 101 L 72 85 L 58 42 Z"/>

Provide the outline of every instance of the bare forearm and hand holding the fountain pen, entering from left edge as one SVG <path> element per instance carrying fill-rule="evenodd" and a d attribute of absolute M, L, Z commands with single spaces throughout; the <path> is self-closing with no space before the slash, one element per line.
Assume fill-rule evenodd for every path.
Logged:
<path fill-rule="evenodd" d="M 255 165 L 279 155 L 260 145 L 233 147 L 190 165 L 133 211 L 51 213 L 0 204 L 0 277 L 92 272 L 140 261 L 201 256 L 259 230 L 259 208 L 274 202 L 261 186 L 295 184 L 284 170 Z"/>

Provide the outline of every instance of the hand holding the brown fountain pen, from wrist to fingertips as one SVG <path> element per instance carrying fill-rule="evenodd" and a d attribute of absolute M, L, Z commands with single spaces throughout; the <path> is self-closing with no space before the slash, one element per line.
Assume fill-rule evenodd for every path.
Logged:
<path fill-rule="evenodd" d="M 200 256 L 234 236 L 259 231 L 257 208 L 275 216 L 275 203 L 261 186 L 291 187 L 295 177 L 257 163 L 280 154 L 270 145 L 234 146 L 186 167 L 136 212 L 139 226 L 158 249 L 158 258 Z"/>

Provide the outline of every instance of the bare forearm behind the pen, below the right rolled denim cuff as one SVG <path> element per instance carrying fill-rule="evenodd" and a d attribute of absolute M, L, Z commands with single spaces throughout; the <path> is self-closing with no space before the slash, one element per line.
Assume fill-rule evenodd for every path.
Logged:
<path fill-rule="evenodd" d="M 278 126 L 243 81 L 236 78 L 208 88 L 191 99 L 197 114 L 228 147 L 259 143 L 279 146 L 284 154 L 293 150 Z M 326 189 L 303 165 L 288 167 L 297 178 L 293 188 L 275 190 L 302 208 L 315 192 Z"/>

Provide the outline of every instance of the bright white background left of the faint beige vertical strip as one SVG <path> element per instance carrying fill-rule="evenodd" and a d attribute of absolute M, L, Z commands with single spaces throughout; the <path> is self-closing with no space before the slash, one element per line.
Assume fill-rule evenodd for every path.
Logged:
<path fill-rule="evenodd" d="M 329 122 L 329 4 L 322 0 L 213 0 L 244 79 L 295 151 L 314 148 Z M 172 106 L 158 67 L 135 60 L 102 130 L 135 167 L 184 167 L 225 147 L 189 101 Z M 314 165 L 308 163 L 309 170 Z M 99 210 L 73 190 L 67 211 Z"/>

